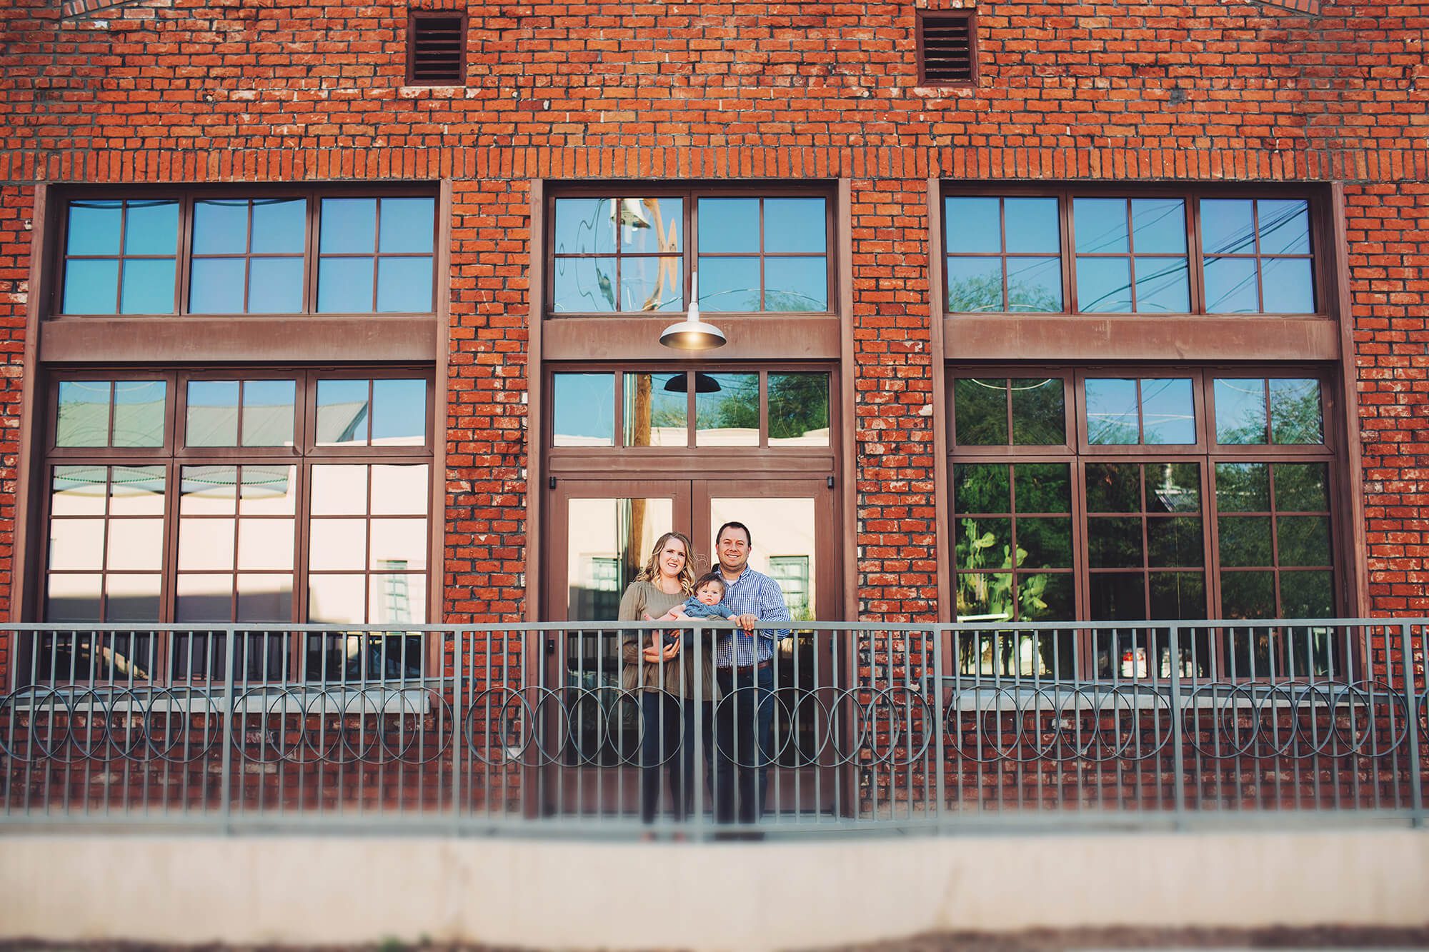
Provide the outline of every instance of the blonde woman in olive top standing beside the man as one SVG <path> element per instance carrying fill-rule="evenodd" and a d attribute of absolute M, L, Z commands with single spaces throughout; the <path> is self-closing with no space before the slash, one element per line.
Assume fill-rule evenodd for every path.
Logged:
<path fill-rule="evenodd" d="M 690 547 L 689 537 L 679 532 L 656 539 L 649 560 L 620 599 L 622 622 L 660 618 L 684 603 L 694 590 Z M 640 736 L 640 819 L 646 823 L 654 820 L 660 803 L 662 765 L 670 778 L 674 819 L 683 820 L 690 812 L 694 792 L 694 698 L 704 700 L 700 720 L 707 719 L 714 690 L 714 659 L 706 646 L 700 678 L 703 692 L 696 695 L 694 652 L 682 650 L 684 645 L 684 639 L 666 639 L 650 629 L 627 633 L 622 645 L 622 686 L 640 695 L 644 728 Z"/>

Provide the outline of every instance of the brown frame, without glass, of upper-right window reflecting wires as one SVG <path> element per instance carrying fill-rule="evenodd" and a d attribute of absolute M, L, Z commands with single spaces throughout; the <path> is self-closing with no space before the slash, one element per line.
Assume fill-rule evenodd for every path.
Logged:
<path fill-rule="evenodd" d="M 1062 310 L 1059 312 L 1026 312 L 1026 310 L 999 310 L 999 312 L 956 312 L 947 309 L 947 302 L 952 299 L 949 289 L 947 276 L 947 259 L 960 257 L 959 254 L 949 253 L 943 249 L 942 260 L 937 263 L 942 287 L 943 287 L 943 307 L 946 317 L 987 317 L 987 316 L 1007 316 L 1007 317 L 1047 317 L 1047 316 L 1072 316 L 1083 317 L 1089 320 L 1106 319 L 1106 317 L 1139 317 L 1139 319 L 1155 319 L 1176 316 L 1180 312 L 1082 312 L 1079 310 L 1079 300 L 1076 294 L 1076 259 L 1087 257 L 1087 254 L 1077 253 L 1073 230 L 1073 216 L 1072 203 L 1073 199 L 1183 199 L 1186 203 L 1186 264 L 1189 269 L 1189 297 L 1190 309 L 1185 312 L 1189 316 L 1210 316 L 1210 317 L 1229 317 L 1240 320 L 1255 320 L 1255 319 L 1306 319 L 1306 317 L 1328 317 L 1333 313 L 1332 307 L 1332 274 L 1329 270 L 1333 267 L 1333 224 L 1329 219 L 1329 202 L 1318 190 L 1303 186 L 1285 186 L 1285 184 L 1265 184 L 1256 187 L 1246 186 L 1228 186 L 1228 184 L 1152 184 L 1152 186 L 1127 186 L 1127 184 L 1053 184 L 1053 186 L 1033 186 L 1033 184 L 1017 184 L 1017 183 L 963 183 L 963 182 L 947 182 L 943 183 L 940 192 L 940 206 L 936 227 L 940 229 L 939 234 L 946 234 L 947 229 L 947 199 L 953 197 L 1042 197 L 1042 199 L 1056 199 L 1057 200 L 1057 217 L 1059 217 L 1059 233 L 1060 233 L 1060 249 L 1056 257 L 1060 263 L 1060 277 L 1062 277 Z M 1205 259 L 1206 257 L 1248 257 L 1248 256 L 1225 256 L 1225 254 L 1203 254 L 1202 253 L 1202 229 L 1200 229 L 1200 202 L 1206 199 L 1265 199 L 1265 200 L 1303 200 L 1308 206 L 1309 213 L 1309 234 L 1310 234 L 1310 253 L 1306 254 L 1272 254 L 1265 256 L 1270 260 L 1275 259 L 1309 259 L 1310 260 L 1310 280 L 1312 280 L 1312 294 L 1315 299 L 1315 310 L 1306 313 L 1280 313 L 1280 312 L 1258 312 L 1258 313 L 1230 313 L 1230 312 L 1208 312 L 1206 310 L 1206 279 L 1205 279 Z M 1258 206 L 1259 207 L 1259 206 Z M 1006 229 L 1003 223 L 1003 230 Z M 1259 236 L 1258 236 L 1258 253 L 1255 256 L 1256 269 L 1259 274 L 1262 256 L 1259 254 Z M 969 257 L 1000 257 L 1006 262 L 1007 254 L 1003 252 L 1000 256 L 993 256 L 992 253 L 982 256 Z M 1050 254 L 1026 254 L 1025 257 L 1052 257 Z M 1110 253 L 1100 254 L 1095 253 L 1092 257 L 1135 257 L 1133 250 L 1126 253 Z M 1163 254 L 1162 257 L 1179 257 L 1172 254 Z M 1003 267 L 1003 306 L 1006 307 L 1006 267 Z M 1135 294 L 1135 289 L 1132 292 Z M 1263 299 L 1263 293 L 1262 293 Z M 1135 297 L 1133 297 L 1135 300 Z"/>

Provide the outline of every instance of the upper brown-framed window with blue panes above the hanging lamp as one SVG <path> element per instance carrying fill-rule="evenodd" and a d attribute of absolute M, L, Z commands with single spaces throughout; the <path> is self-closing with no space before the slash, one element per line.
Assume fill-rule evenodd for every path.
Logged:
<path fill-rule="evenodd" d="M 610 184 L 549 199 L 549 316 L 683 312 L 692 274 L 710 313 L 827 314 L 832 192 Z"/>

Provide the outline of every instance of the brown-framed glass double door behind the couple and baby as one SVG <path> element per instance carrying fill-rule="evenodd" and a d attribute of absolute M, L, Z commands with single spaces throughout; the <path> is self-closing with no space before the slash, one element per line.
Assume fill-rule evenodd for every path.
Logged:
<path fill-rule="evenodd" d="M 543 676 L 576 700 L 567 702 L 559 728 L 569 732 L 563 769 L 542 785 L 544 809 L 609 813 L 637 808 L 639 702 L 620 690 L 620 633 L 592 632 L 580 623 L 616 620 L 620 596 L 664 532 L 692 539 L 692 567 L 699 576 L 717 566 L 719 526 L 742 522 L 753 536 L 750 567 L 779 582 L 795 619 L 795 635 L 780 642 L 775 659 L 783 716 L 775 719 L 776 776 L 767 809 L 827 810 L 832 783 L 809 776 L 820 760 L 813 735 L 826 733 L 827 725 L 800 716 L 797 700 L 836 682 L 832 638 L 807 626 L 836 619 L 839 610 L 835 492 L 826 479 L 560 479 L 550 500 L 544 615 L 569 626 L 547 642 Z M 829 796 L 819 793 L 825 788 Z"/>

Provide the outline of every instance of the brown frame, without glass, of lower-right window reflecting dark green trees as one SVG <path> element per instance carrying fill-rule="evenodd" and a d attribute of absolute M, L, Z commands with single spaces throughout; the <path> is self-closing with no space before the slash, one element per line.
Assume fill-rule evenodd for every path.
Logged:
<path fill-rule="evenodd" d="M 1022 377 L 1022 379 L 1057 379 L 1063 380 L 1065 386 L 1065 409 L 1067 413 L 1067 435 L 1069 440 L 1066 446 L 1037 446 L 1037 445 L 1015 445 L 1015 446 L 959 446 L 956 442 L 956 403 L 953 399 L 953 390 L 956 380 L 962 377 Z M 1155 377 L 1190 377 L 1192 379 L 1192 400 L 1196 407 L 1196 437 L 1195 445 L 1155 445 L 1155 443 L 1140 443 L 1140 445 L 1093 445 L 1087 442 L 1087 426 L 1086 426 L 1086 392 L 1085 382 L 1087 377 L 1119 377 L 1119 379 L 1155 379 Z M 1319 382 L 1319 399 L 1320 399 L 1320 419 L 1323 425 L 1323 442 L 1302 445 L 1302 443 L 1259 443 L 1259 445 L 1220 445 L 1215 442 L 1215 380 L 1220 377 L 1239 377 L 1239 379 L 1299 379 L 1308 377 Z M 1279 576 L 1282 572 L 1330 572 L 1332 586 L 1333 586 L 1333 603 L 1332 616 L 1339 618 L 1342 608 L 1346 600 L 1346 577 L 1350 573 L 1350 567 L 1345 563 L 1345 546 L 1342 543 L 1343 533 L 1350 532 L 1349 513 L 1343 510 L 1342 493 L 1339 483 L 1346 477 L 1340 472 L 1342 460 L 1345 459 L 1343 452 L 1340 452 L 1340 445 L 1343 442 L 1343 435 L 1338 432 L 1335 422 L 1336 415 L 1333 413 L 1333 369 L 1308 366 L 1308 365 L 1253 365 L 1253 366 L 1218 366 L 1218 365 L 1202 365 L 1195 367 L 1175 367 L 1166 365 L 1132 365 L 1132 366 L 950 366 L 946 375 L 946 397 L 949 407 L 949 452 L 947 452 L 947 477 L 949 477 L 949 529 L 950 539 L 947 542 L 947 563 L 949 573 L 952 576 L 952 589 L 956 592 L 957 576 L 963 570 L 957 566 L 956 557 L 956 540 L 959 533 L 959 519 L 963 516 L 985 516 L 985 513 L 960 513 L 957 510 L 956 493 L 953 492 L 953 475 L 955 466 L 965 463 L 983 463 L 983 465 L 1017 465 L 1017 463 L 1065 463 L 1067 465 L 1067 476 L 1070 483 L 1072 500 L 1070 500 L 1070 520 L 1072 520 L 1072 563 L 1073 563 L 1073 577 L 1075 577 L 1075 596 L 1073 596 L 1073 615 L 1075 618 L 1057 619 L 1063 622 L 1089 622 L 1090 618 L 1090 579 L 1093 575 L 1106 575 L 1116 572 L 1140 572 L 1149 579 L 1149 573 L 1160 570 L 1193 570 L 1190 567 L 1156 567 L 1149 563 L 1149 547 L 1146 546 L 1146 513 L 1140 513 L 1142 530 L 1143 530 L 1143 549 L 1142 549 L 1142 567 L 1140 569 L 1092 569 L 1089 557 L 1089 522 L 1087 522 L 1087 500 L 1086 500 L 1086 467 L 1089 465 L 1097 463 L 1113 463 L 1113 465 L 1163 465 L 1163 463 L 1189 463 L 1196 465 L 1199 469 L 1200 479 L 1200 503 L 1199 503 L 1199 519 L 1202 530 L 1202 553 L 1203 565 L 1199 569 L 1205 583 L 1205 615 L 1206 618 L 1212 615 L 1219 615 L 1222 610 L 1222 590 L 1220 590 L 1220 573 L 1226 566 L 1220 563 L 1220 547 L 1219 547 L 1219 522 L 1223 517 L 1216 500 L 1216 465 L 1218 463 L 1265 463 L 1268 477 L 1272 480 L 1272 497 L 1270 497 L 1270 513 L 1259 512 L 1236 512 L 1233 516 L 1270 516 L 1270 526 L 1273 537 L 1270 540 L 1272 546 L 1272 563 L 1268 566 L 1230 566 L 1230 572 L 1240 570 L 1266 570 L 1275 575 L 1275 608 L 1276 616 L 1282 616 L 1282 592 L 1279 586 Z M 1268 396 L 1269 399 L 1269 396 Z M 1329 506 L 1325 512 L 1309 512 L 1300 513 L 1299 510 L 1286 510 L 1280 513 L 1275 509 L 1273 499 L 1273 472 L 1276 465 L 1296 465 L 1296 463 L 1320 463 L 1325 466 L 1326 472 L 1326 496 Z M 1145 493 L 1145 487 L 1142 489 Z M 1142 500 L 1145 509 L 1145 497 Z M 1230 510 L 1226 510 L 1228 513 Z M 1125 513 L 1133 516 L 1137 513 Z M 1329 517 L 1330 530 L 1330 565 L 1329 566 L 1282 566 L 1279 562 L 1278 547 L 1279 539 L 1276 532 L 1276 517 L 1280 515 L 1310 515 L 1319 516 L 1326 515 Z M 1167 513 L 1166 517 L 1170 517 Z M 992 517 L 992 516 L 989 516 Z M 1160 517 L 1160 516 L 1157 516 Z M 1039 569 L 1020 569 L 1013 566 L 1012 569 L 979 569 L 977 572 L 1009 572 L 1016 575 L 1036 575 Z M 1053 573 L 1060 572 L 1057 569 L 1046 569 L 1045 572 Z M 1150 598 L 1149 587 L 1143 590 L 1143 599 Z M 1149 600 L 1145 602 L 1149 605 Z M 1050 619 L 1049 619 L 1050 620 Z M 1205 619 L 1182 619 L 1187 623 L 1205 622 Z M 1225 625 L 1206 625 L 1206 628 L 1233 628 L 1236 619 L 1225 619 Z M 1009 622 L 1015 626 L 1016 622 Z M 1150 620 L 1147 628 L 1155 628 L 1156 622 Z M 1189 628 L 1186 629 L 1186 638 L 1190 638 Z M 1096 636 L 1090 629 L 1077 630 L 1076 642 L 1076 659 L 1080 666 L 1083 676 L 1095 675 L 1095 650 L 1096 650 Z M 1220 666 L 1219 673 L 1223 676 L 1235 675 L 1238 679 L 1246 679 L 1243 672 L 1235 672 L 1228 669 L 1226 652 L 1218 655 L 1218 665 Z M 1350 672 L 1336 672 L 1335 676 L 1349 676 Z M 1265 672 L 1256 672 L 1256 678 L 1265 676 Z"/>

